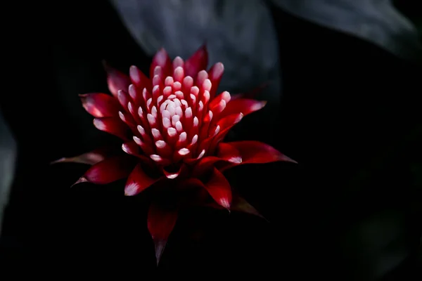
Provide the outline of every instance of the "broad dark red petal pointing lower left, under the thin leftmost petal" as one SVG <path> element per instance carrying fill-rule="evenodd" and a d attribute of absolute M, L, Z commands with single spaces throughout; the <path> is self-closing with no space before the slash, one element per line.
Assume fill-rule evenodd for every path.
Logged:
<path fill-rule="evenodd" d="M 129 176 L 132 169 L 134 169 L 134 158 L 127 155 L 110 157 L 91 166 L 75 184 L 87 181 L 98 185 L 113 183 Z"/>

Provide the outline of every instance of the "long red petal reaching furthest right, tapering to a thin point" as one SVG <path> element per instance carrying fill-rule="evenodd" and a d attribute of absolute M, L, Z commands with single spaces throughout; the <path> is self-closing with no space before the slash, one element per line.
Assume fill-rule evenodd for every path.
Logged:
<path fill-rule="evenodd" d="M 234 141 L 227 144 L 232 145 L 242 155 L 242 162 L 240 164 L 264 164 L 277 161 L 297 163 L 295 160 L 283 155 L 279 150 L 271 147 L 271 145 L 261 143 L 260 141 Z M 231 164 L 220 170 L 224 171 L 236 165 L 239 164 Z"/>

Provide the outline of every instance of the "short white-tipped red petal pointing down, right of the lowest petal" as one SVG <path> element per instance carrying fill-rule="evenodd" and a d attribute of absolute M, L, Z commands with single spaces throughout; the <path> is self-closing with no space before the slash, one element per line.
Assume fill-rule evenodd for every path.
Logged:
<path fill-rule="evenodd" d="M 229 182 L 224 175 L 214 168 L 212 175 L 207 183 L 204 184 L 205 189 L 210 193 L 212 199 L 226 209 L 230 209 L 231 204 L 231 188 Z"/>

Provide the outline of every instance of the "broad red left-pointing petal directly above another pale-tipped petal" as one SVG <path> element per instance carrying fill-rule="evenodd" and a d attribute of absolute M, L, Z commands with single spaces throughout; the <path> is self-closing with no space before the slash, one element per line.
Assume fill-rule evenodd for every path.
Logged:
<path fill-rule="evenodd" d="M 85 110 L 97 118 L 117 116 L 120 110 L 117 100 L 106 93 L 85 93 L 79 97 Z"/>

